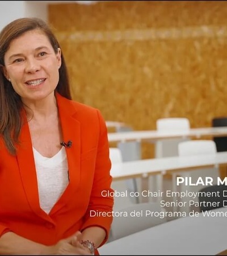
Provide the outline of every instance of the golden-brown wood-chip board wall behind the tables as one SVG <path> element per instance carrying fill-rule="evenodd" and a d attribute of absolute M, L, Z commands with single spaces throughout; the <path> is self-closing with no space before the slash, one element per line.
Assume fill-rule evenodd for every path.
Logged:
<path fill-rule="evenodd" d="M 161 117 L 211 126 L 227 115 L 227 2 L 49 6 L 73 98 L 135 130 Z M 150 156 L 146 145 L 145 155 Z"/>

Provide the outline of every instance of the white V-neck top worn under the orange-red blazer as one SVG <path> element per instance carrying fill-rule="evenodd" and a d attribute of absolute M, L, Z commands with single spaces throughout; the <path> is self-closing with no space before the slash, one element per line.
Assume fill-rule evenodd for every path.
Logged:
<path fill-rule="evenodd" d="M 52 158 L 41 155 L 33 148 L 40 207 L 49 213 L 69 183 L 65 147 Z"/>

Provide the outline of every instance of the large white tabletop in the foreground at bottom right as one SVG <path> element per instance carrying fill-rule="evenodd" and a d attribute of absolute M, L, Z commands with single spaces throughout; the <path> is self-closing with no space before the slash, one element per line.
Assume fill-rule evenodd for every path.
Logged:
<path fill-rule="evenodd" d="M 227 207 L 226 207 L 227 208 Z M 182 217 L 106 243 L 100 255 L 215 255 L 227 248 L 226 217 Z"/>

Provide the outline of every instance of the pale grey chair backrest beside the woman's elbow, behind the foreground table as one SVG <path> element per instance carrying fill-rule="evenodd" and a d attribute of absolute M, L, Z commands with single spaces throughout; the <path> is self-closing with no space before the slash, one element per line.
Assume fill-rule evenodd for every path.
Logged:
<path fill-rule="evenodd" d="M 157 202 L 134 204 L 118 210 L 111 225 L 112 241 L 166 222 L 165 212 Z"/>

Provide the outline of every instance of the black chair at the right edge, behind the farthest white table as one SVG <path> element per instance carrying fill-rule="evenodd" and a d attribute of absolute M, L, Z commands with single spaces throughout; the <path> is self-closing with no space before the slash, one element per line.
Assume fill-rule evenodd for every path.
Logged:
<path fill-rule="evenodd" d="M 227 126 L 227 117 L 216 117 L 212 119 L 212 127 Z M 213 137 L 217 152 L 227 151 L 227 137 Z"/>

